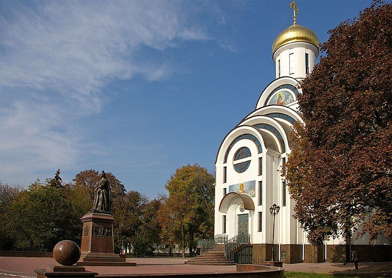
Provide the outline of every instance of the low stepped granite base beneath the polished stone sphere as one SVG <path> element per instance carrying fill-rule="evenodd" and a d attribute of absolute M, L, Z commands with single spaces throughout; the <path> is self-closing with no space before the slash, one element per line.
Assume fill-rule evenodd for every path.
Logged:
<path fill-rule="evenodd" d="M 98 273 L 86 271 L 81 266 L 49 265 L 47 269 L 36 269 L 37 278 L 94 278 Z"/>

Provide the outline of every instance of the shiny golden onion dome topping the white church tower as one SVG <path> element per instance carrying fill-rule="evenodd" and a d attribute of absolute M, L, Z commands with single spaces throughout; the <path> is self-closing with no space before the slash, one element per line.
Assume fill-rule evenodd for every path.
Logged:
<path fill-rule="evenodd" d="M 319 47 L 319 38 L 316 36 L 315 32 L 305 26 L 293 24 L 280 32 L 273 41 L 272 53 L 281 46 L 292 42 L 308 42 L 317 48 Z"/>

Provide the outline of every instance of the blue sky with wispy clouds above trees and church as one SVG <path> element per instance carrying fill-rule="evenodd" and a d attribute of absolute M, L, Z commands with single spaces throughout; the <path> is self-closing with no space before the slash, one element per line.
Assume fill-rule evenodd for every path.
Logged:
<path fill-rule="evenodd" d="M 175 169 L 214 171 L 274 76 L 291 1 L 1 1 L 0 179 L 112 172 L 153 198 Z M 321 42 L 370 1 L 296 1 Z"/>

